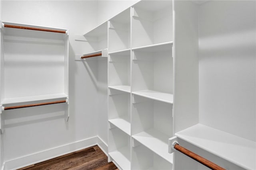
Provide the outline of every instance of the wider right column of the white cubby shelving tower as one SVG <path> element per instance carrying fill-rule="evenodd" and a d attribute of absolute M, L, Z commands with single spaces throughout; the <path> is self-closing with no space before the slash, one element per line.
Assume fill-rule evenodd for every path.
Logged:
<path fill-rule="evenodd" d="M 131 169 L 172 169 L 172 1 L 132 6 Z"/>

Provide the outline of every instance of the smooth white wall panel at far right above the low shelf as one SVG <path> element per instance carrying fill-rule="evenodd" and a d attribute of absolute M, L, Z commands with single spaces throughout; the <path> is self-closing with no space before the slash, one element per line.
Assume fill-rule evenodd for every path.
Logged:
<path fill-rule="evenodd" d="M 199 11 L 199 122 L 252 141 L 256 141 L 255 6 L 255 1 L 210 1 Z"/>

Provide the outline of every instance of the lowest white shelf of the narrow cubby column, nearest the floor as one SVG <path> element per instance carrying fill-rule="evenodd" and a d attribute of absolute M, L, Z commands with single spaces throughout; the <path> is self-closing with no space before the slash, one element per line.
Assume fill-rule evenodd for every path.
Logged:
<path fill-rule="evenodd" d="M 130 148 L 123 147 L 113 152 L 109 152 L 109 156 L 122 168 L 123 170 L 130 170 L 131 163 L 127 156 L 130 155 Z"/>

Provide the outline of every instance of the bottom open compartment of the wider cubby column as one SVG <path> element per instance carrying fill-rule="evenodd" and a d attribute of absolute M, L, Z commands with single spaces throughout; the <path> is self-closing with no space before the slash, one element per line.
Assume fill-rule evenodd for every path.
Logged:
<path fill-rule="evenodd" d="M 172 164 L 143 145 L 132 147 L 132 170 L 171 170 Z"/>

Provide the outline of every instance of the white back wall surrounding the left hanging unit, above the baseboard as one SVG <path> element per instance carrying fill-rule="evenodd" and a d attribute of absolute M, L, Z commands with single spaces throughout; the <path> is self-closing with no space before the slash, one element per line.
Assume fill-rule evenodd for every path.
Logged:
<path fill-rule="evenodd" d="M 68 123 L 61 104 L 6 111 L 4 161 L 97 136 L 97 87 L 91 76 L 97 75 L 97 62 L 89 63 L 88 72 L 82 62 L 74 61 L 74 55 L 87 48 L 86 43 L 74 41 L 74 35 L 82 35 L 97 25 L 97 1 L 3 0 L 1 6 L 2 21 L 70 30 Z"/>

